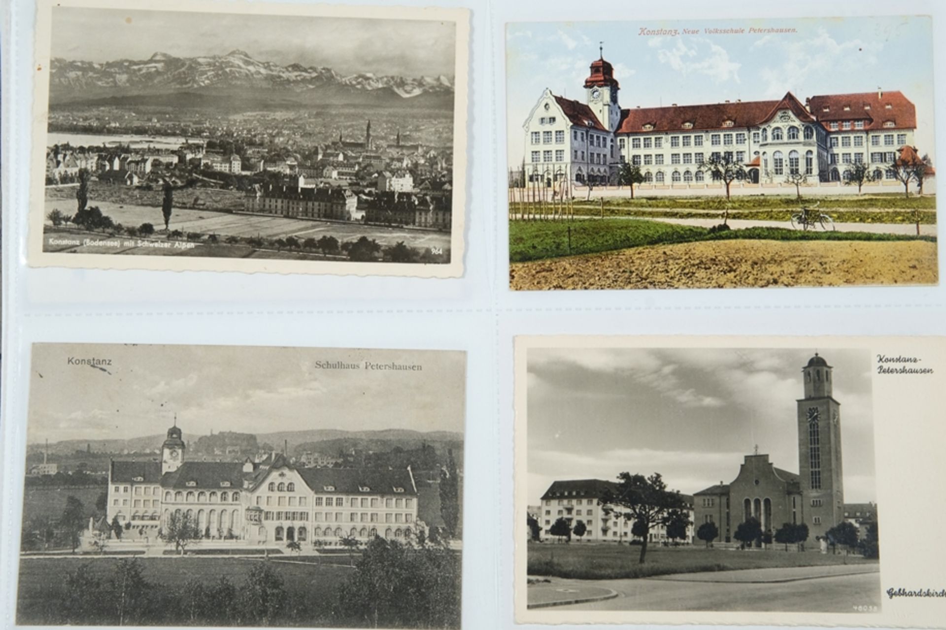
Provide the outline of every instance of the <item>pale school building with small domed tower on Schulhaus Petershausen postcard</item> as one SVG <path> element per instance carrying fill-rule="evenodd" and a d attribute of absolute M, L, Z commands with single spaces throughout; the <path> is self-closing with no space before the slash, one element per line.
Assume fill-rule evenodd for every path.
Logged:
<path fill-rule="evenodd" d="M 126 537 L 156 540 L 175 514 L 188 516 L 201 538 L 250 544 L 399 539 L 426 530 L 410 466 L 308 468 L 276 453 L 262 462 L 189 461 L 176 424 L 161 453 L 160 462 L 109 466 L 107 518 Z"/>

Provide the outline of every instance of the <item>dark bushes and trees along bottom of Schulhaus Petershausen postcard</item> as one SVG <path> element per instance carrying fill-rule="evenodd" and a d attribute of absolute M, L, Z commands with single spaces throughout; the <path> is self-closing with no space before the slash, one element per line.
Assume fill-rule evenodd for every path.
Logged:
<path fill-rule="evenodd" d="M 44 585 L 42 600 L 20 621 L 51 625 L 204 625 L 265 627 L 460 626 L 460 554 L 446 545 L 371 540 L 338 585 L 289 584 L 266 561 L 242 580 L 193 577 L 166 585 L 149 580 L 138 559 L 86 562 Z M 103 570 L 104 569 L 104 570 Z M 312 568 L 315 569 L 314 567 Z M 21 599 L 21 602 L 23 599 Z"/>

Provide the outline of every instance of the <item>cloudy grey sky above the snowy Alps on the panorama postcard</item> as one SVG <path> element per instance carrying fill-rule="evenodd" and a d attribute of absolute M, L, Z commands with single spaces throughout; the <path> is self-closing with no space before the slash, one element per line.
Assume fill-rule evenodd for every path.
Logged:
<path fill-rule="evenodd" d="M 58 8 L 52 33 L 52 56 L 74 61 L 239 49 L 258 61 L 328 66 L 342 75 L 454 74 L 456 25 L 435 21 Z"/>

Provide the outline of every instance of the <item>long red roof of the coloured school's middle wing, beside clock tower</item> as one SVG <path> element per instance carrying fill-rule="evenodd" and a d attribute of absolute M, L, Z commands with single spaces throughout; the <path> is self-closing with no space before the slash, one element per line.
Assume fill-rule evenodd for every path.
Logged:
<path fill-rule="evenodd" d="M 760 125 L 779 110 L 791 110 L 800 120 L 814 122 L 815 118 L 798 102 L 791 92 L 779 100 L 750 100 L 734 103 L 708 103 L 705 105 L 682 105 L 679 107 L 647 107 L 622 110 L 618 133 L 639 133 L 645 125 L 653 125 L 647 131 L 682 130 L 726 130 Z M 731 121 L 732 125 L 724 125 Z M 689 127 L 684 125 L 689 124 Z"/>

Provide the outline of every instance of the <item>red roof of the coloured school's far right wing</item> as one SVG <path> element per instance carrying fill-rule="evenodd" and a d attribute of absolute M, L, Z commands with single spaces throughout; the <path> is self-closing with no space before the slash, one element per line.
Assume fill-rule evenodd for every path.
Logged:
<path fill-rule="evenodd" d="M 815 114 L 822 124 L 841 120 L 863 120 L 864 129 L 869 131 L 917 127 L 916 106 L 898 91 L 812 96 L 809 104 L 812 114 Z M 893 127 L 884 127 L 887 121 L 892 122 Z"/>

